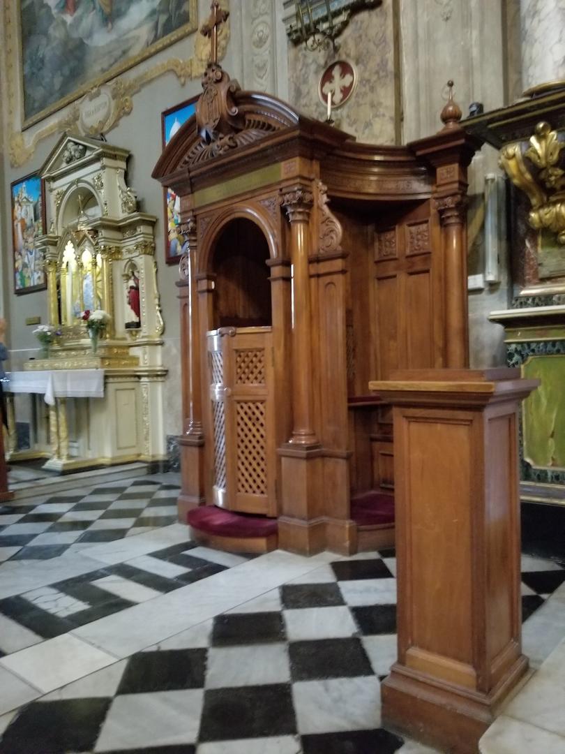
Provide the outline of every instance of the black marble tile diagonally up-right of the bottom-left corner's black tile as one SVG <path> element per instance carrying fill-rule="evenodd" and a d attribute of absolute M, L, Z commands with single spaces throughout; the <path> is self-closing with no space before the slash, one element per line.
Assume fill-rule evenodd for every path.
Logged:
<path fill-rule="evenodd" d="M 117 694 L 203 688 L 206 649 L 138 652 L 130 657 Z"/>

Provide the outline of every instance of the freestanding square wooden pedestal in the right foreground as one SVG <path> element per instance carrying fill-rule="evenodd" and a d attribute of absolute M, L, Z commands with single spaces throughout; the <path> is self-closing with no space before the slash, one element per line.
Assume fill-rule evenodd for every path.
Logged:
<path fill-rule="evenodd" d="M 521 653 L 518 369 L 395 372 L 398 660 L 383 724 L 475 754 Z"/>

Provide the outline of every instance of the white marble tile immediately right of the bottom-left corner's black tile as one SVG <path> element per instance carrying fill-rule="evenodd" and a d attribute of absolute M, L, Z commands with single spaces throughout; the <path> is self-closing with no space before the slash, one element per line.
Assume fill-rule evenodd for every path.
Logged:
<path fill-rule="evenodd" d="M 95 752 L 194 743 L 203 689 L 122 694 L 111 703 Z"/>

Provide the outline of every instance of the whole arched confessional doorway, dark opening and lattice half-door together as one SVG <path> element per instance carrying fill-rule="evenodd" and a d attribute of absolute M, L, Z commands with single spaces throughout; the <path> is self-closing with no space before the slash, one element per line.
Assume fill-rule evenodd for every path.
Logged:
<path fill-rule="evenodd" d="M 213 280 L 203 333 L 206 434 L 213 437 L 207 497 L 228 510 L 276 516 L 269 241 L 254 219 L 235 216 L 218 228 L 206 256 Z"/>

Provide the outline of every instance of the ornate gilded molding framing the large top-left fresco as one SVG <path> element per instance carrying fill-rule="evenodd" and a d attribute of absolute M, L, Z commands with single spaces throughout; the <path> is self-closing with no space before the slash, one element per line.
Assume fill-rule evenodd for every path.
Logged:
<path fill-rule="evenodd" d="M 228 5 L 228 0 L 222 0 L 222 6 Z M 194 55 L 186 60 L 171 57 L 162 63 L 148 67 L 139 75 L 127 78 L 121 75 L 113 81 L 108 77 L 100 77 L 90 83 L 90 88 L 84 92 L 73 93 L 72 97 L 60 103 L 58 111 L 45 113 L 36 119 L 32 127 L 23 130 L 23 108 L 21 106 L 22 93 L 20 91 L 20 41 L 18 39 L 19 24 L 17 23 L 17 0 L 5 0 L 4 7 L 4 30 L 5 30 L 5 54 L 2 61 L 5 71 L 7 90 L 7 106 L 5 111 L 6 130 L 5 147 L 10 155 L 12 167 L 20 167 L 25 164 L 35 153 L 38 144 L 52 136 L 54 133 L 81 134 L 83 136 L 96 136 L 99 133 L 108 133 L 115 128 L 126 115 L 133 111 L 133 96 L 150 84 L 156 78 L 173 72 L 180 84 L 184 86 L 191 78 L 198 78 L 206 69 L 209 58 L 209 46 L 201 35 L 195 35 Z M 182 36 L 186 35 L 186 31 Z M 225 23 L 218 32 L 218 59 L 221 60 L 228 48 L 230 38 L 229 22 Z M 167 42 L 159 50 L 162 51 Z M 143 55 L 130 63 L 128 68 L 136 66 L 143 60 L 151 60 Z M 105 83 L 108 81 L 108 83 Z M 41 123 L 41 126 L 38 124 Z"/>

